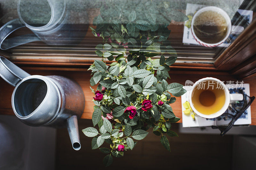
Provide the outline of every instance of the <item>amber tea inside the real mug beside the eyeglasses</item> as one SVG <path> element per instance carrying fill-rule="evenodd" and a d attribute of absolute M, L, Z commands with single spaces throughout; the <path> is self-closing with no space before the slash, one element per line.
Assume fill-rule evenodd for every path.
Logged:
<path fill-rule="evenodd" d="M 191 100 L 198 112 L 211 115 L 224 106 L 226 96 L 223 86 L 218 82 L 204 81 L 193 90 Z"/>

